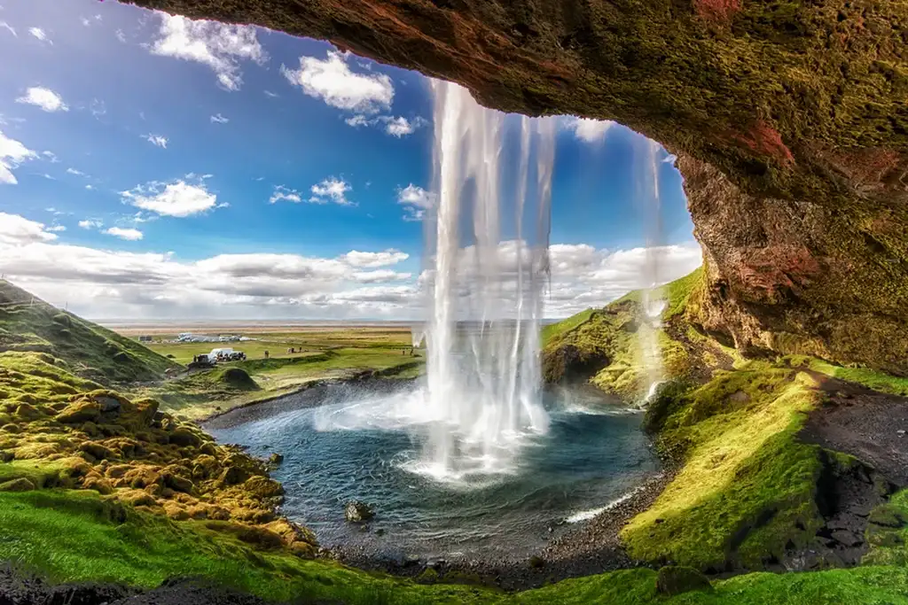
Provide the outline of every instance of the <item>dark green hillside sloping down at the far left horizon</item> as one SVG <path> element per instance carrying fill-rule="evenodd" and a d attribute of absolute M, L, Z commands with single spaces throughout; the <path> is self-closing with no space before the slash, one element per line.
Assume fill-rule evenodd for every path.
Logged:
<path fill-rule="evenodd" d="M 0 280 L 0 353 L 47 353 L 103 384 L 158 380 L 173 361 Z"/>

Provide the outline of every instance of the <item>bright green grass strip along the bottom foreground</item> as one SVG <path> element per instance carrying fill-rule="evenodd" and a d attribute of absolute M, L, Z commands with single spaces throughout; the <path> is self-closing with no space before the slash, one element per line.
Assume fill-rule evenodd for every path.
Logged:
<path fill-rule="evenodd" d="M 868 566 L 806 573 L 752 573 L 714 581 L 713 592 L 666 598 L 656 571 L 614 571 L 504 594 L 450 584 L 419 585 L 282 551 L 256 551 L 202 522 L 173 522 L 104 503 L 91 492 L 0 493 L 0 560 L 52 581 L 119 581 L 153 588 L 196 576 L 267 600 L 348 605 L 890 605 L 908 603 L 908 569 Z"/>

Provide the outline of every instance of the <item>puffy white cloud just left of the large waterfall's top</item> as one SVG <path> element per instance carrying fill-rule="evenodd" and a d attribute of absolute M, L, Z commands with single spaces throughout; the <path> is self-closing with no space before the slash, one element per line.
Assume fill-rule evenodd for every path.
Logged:
<path fill-rule="evenodd" d="M 375 113 L 389 109 L 394 85 L 383 73 L 353 73 L 347 55 L 329 51 L 326 59 L 300 57 L 300 69 L 281 65 L 281 73 L 302 92 L 339 109 Z"/>

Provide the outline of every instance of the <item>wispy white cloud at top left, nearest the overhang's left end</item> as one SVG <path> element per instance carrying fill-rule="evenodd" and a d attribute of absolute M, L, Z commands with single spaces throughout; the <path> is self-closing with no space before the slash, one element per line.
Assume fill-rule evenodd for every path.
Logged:
<path fill-rule="evenodd" d="M 152 54 L 202 63 L 217 75 L 229 91 L 242 86 L 240 60 L 267 61 L 251 25 L 229 25 L 213 21 L 192 21 L 183 16 L 158 14 L 161 28 L 151 46 Z"/>

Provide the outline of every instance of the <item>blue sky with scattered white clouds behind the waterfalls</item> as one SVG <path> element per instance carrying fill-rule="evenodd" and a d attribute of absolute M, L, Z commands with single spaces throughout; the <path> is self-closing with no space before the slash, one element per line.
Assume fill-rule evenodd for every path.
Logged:
<path fill-rule="evenodd" d="M 5 0 L 0 56 L 15 57 L 0 70 L 8 278 L 89 317 L 419 315 L 406 202 L 425 203 L 433 136 L 419 73 L 94 0 Z M 624 127 L 558 119 L 553 279 L 571 296 L 549 316 L 637 287 L 645 150 Z M 674 278 L 699 254 L 666 158 Z"/>

